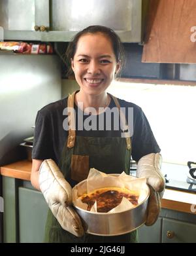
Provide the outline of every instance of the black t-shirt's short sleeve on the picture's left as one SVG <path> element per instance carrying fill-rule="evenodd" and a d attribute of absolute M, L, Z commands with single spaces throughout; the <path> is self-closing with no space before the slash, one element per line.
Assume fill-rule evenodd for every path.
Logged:
<path fill-rule="evenodd" d="M 33 159 L 54 159 L 52 124 L 47 115 L 38 111 L 35 119 L 35 133 L 33 140 Z"/>

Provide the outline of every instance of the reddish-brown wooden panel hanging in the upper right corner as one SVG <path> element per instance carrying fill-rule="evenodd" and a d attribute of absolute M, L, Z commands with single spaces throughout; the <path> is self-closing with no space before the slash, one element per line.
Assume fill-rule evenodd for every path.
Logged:
<path fill-rule="evenodd" d="M 150 0 L 142 62 L 196 63 L 195 9 L 195 0 Z"/>

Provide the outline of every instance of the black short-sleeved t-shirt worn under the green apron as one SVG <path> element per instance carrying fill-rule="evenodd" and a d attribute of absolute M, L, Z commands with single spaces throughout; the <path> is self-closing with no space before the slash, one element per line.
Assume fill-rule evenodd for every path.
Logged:
<path fill-rule="evenodd" d="M 131 147 L 132 158 L 138 161 L 142 156 L 150 153 L 159 153 L 159 145 L 155 140 L 154 134 L 150 128 L 150 124 L 146 119 L 142 109 L 134 103 L 127 102 L 118 99 L 120 107 L 125 113 L 125 117 L 129 120 L 132 117 L 130 113 L 133 113 L 133 119 L 130 119 L 131 130 Z M 35 120 L 35 134 L 33 142 L 33 159 L 48 159 L 52 158 L 57 164 L 61 157 L 61 151 L 65 145 L 65 141 L 68 136 L 67 132 L 67 115 L 65 115 L 67 107 L 67 98 L 58 100 L 54 103 L 50 103 L 38 111 Z M 108 111 L 116 107 L 113 100 L 110 101 Z M 84 113 L 76 105 L 76 136 L 84 137 L 120 137 L 122 130 L 116 126 L 115 114 L 111 115 L 111 119 L 108 119 L 106 115 L 107 110 L 99 115 L 83 115 Z M 128 111 L 132 109 L 132 111 Z M 81 115 L 82 114 L 82 115 Z M 82 116 L 82 119 L 80 117 Z M 101 118 L 102 117 L 102 118 Z M 94 121 L 90 121 L 90 119 Z M 82 121 L 81 121 L 82 120 Z M 103 122 L 101 122 L 103 120 Z M 86 130 L 82 130 L 83 124 Z M 94 125 L 96 124 L 96 125 Z M 102 125 L 103 124 L 103 125 Z M 110 127 L 108 127 L 108 124 Z M 118 124 L 118 122 L 117 122 Z M 96 126 L 96 127 L 95 127 Z M 99 130 L 97 130 L 97 127 Z M 90 130 L 89 130 L 90 129 Z M 112 153 L 111 153 L 112 156 Z"/>

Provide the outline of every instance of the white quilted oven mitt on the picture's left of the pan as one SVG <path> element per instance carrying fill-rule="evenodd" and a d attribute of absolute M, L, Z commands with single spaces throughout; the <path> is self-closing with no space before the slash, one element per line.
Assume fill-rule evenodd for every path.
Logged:
<path fill-rule="evenodd" d="M 71 207 L 72 189 L 52 159 L 44 160 L 39 169 L 39 185 L 46 202 L 61 227 L 74 236 L 83 236 L 80 217 Z"/>

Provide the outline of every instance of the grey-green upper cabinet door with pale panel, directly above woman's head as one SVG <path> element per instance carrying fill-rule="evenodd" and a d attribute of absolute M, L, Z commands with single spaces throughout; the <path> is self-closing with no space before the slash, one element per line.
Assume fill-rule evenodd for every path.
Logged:
<path fill-rule="evenodd" d="M 102 25 L 114 29 L 123 42 L 141 41 L 142 0 L 52 0 L 51 10 L 54 36 Z"/>

